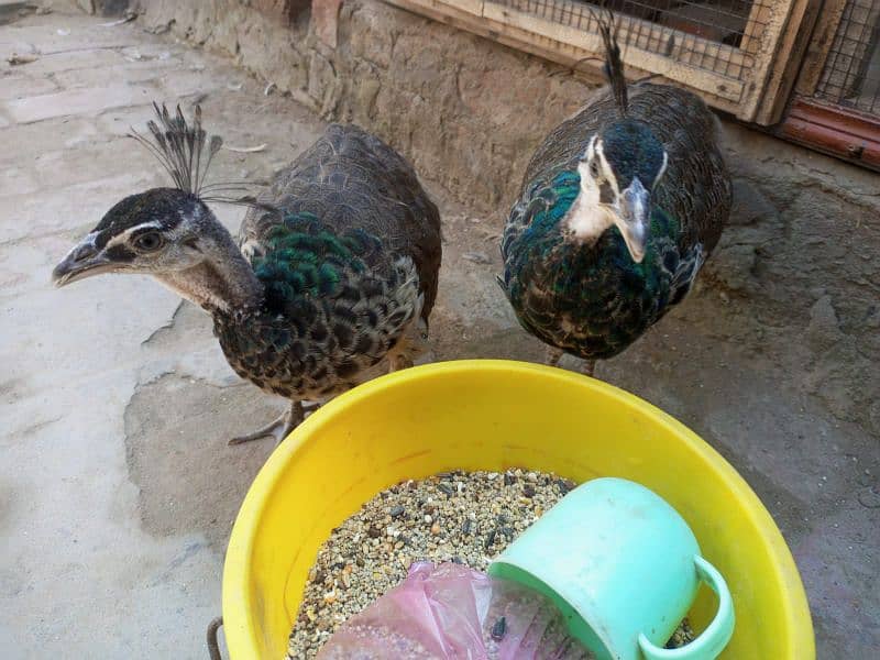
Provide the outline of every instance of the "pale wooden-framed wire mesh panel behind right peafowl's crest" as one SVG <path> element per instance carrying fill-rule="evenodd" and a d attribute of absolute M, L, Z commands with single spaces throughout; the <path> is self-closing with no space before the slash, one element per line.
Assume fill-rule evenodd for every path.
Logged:
<path fill-rule="evenodd" d="M 604 52 L 600 15 L 610 11 L 624 63 L 635 75 L 647 73 L 680 85 L 717 110 L 769 127 L 784 113 L 810 35 L 824 12 L 817 3 L 842 8 L 846 0 L 385 1 L 592 73 Z M 836 25 L 827 28 L 823 45 L 831 43 Z M 811 92 L 824 52 L 813 59 Z"/>

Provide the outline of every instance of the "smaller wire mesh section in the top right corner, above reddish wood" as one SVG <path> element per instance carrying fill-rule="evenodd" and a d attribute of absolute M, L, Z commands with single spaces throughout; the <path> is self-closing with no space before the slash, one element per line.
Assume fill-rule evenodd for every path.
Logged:
<path fill-rule="evenodd" d="M 880 116 L 880 0 L 848 0 L 816 98 Z"/>

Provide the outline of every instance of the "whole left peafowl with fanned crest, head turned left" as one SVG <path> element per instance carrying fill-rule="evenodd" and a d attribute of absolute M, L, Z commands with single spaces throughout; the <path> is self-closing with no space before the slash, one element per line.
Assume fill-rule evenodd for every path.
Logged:
<path fill-rule="evenodd" d="M 201 306 L 234 371 L 292 406 L 230 443 L 274 435 L 320 404 L 425 348 L 437 296 L 440 218 L 410 165 L 356 127 L 331 125 L 278 173 L 242 222 L 237 244 L 207 201 L 221 146 L 201 128 L 156 107 L 152 141 L 174 188 L 112 207 L 53 273 L 64 286 L 101 273 L 146 273 Z"/>

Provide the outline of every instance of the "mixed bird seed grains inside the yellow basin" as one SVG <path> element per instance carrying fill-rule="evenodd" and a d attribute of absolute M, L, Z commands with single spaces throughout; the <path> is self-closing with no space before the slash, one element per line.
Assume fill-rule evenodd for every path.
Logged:
<path fill-rule="evenodd" d="M 315 658 L 349 617 L 403 582 L 415 561 L 452 561 L 486 571 L 574 485 L 554 474 L 509 470 L 444 472 L 383 491 L 318 551 L 287 658 Z M 690 639 L 685 619 L 670 646 Z"/>

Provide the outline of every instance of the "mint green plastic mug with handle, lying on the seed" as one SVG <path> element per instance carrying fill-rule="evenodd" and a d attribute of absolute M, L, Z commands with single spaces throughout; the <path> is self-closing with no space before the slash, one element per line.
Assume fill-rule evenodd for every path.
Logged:
<path fill-rule="evenodd" d="M 598 660 L 711 660 L 734 634 L 730 592 L 700 556 L 684 518 L 623 479 L 593 480 L 569 493 L 488 572 L 549 596 Z M 714 620 L 684 647 L 662 648 L 701 580 L 718 595 Z"/>

